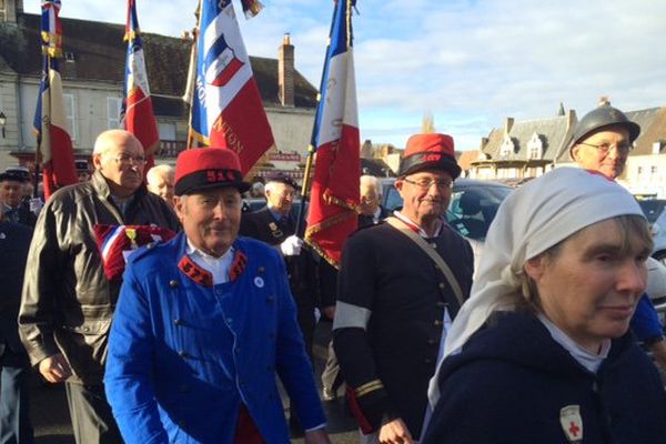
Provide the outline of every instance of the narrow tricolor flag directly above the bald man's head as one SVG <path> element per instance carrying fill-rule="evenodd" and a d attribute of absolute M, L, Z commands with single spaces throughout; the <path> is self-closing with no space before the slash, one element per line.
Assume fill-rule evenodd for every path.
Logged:
<path fill-rule="evenodd" d="M 125 130 L 134 134 L 143 145 L 148 159 L 144 172 L 148 172 L 154 164 L 153 154 L 160 143 L 160 137 L 148 87 L 135 0 L 128 0 L 124 41 L 128 42 L 128 57 L 121 119 Z"/>

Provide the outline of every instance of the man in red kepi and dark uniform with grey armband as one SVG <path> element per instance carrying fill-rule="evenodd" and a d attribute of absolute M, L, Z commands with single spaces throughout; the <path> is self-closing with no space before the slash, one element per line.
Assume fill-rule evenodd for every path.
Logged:
<path fill-rule="evenodd" d="M 461 168 L 446 134 L 410 138 L 404 206 L 346 242 L 333 346 L 362 443 L 418 440 L 443 332 L 470 294 L 470 243 L 444 220 Z"/>

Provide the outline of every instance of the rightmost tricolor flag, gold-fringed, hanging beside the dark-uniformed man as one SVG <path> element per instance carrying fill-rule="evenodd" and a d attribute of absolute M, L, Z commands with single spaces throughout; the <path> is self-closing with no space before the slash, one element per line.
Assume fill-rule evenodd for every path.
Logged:
<path fill-rule="evenodd" d="M 337 0 L 331 27 L 312 147 L 316 163 L 305 241 L 335 268 L 356 230 L 361 170 L 359 111 L 352 46 L 352 7 Z"/>

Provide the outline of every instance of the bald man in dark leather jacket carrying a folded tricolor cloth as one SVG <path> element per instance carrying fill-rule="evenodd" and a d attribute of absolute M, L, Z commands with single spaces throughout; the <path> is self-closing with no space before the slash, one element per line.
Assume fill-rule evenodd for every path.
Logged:
<path fill-rule="evenodd" d="M 39 215 L 19 330 L 42 376 L 65 381 L 77 443 L 122 443 L 102 385 L 122 270 L 133 250 L 172 235 L 179 223 L 145 190 L 134 135 L 101 133 L 92 162 L 90 181 L 58 190 Z"/>

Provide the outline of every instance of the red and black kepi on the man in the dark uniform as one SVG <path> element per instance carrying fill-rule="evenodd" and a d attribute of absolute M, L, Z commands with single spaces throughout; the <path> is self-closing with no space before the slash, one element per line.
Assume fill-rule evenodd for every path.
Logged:
<path fill-rule="evenodd" d="M 444 170 L 453 179 L 461 175 L 451 135 L 414 134 L 407 140 L 397 175 L 405 176 L 423 170 Z"/>

